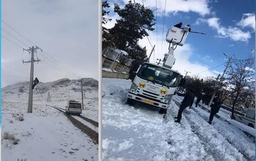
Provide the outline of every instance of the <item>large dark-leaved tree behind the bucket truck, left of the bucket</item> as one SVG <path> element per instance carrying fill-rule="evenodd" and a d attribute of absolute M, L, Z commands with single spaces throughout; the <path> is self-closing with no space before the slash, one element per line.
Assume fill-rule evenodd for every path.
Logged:
<path fill-rule="evenodd" d="M 139 64 L 147 61 L 147 50 L 138 45 L 138 41 L 148 36 L 147 31 L 154 30 L 154 14 L 149 8 L 131 1 L 125 4 L 124 8 L 115 4 L 114 11 L 120 19 L 116 20 L 115 26 L 108 30 L 109 37 L 107 39 L 116 48 L 129 53 L 129 57 L 134 60 L 130 70 L 132 77 Z"/>

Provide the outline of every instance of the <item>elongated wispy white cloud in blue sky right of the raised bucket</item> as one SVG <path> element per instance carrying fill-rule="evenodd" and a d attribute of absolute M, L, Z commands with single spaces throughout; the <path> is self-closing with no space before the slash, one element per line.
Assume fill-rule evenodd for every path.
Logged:
<path fill-rule="evenodd" d="M 223 27 L 220 25 L 220 18 L 198 18 L 195 24 L 206 22 L 212 29 L 216 29 L 219 38 L 230 38 L 233 41 L 248 41 L 251 38 L 250 32 L 241 31 L 237 27 Z"/>

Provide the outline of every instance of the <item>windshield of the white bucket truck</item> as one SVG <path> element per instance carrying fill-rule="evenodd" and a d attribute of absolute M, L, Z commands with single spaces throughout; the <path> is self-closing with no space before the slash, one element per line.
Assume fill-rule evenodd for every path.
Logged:
<path fill-rule="evenodd" d="M 180 74 L 152 64 L 143 64 L 137 76 L 166 87 L 176 87 Z"/>

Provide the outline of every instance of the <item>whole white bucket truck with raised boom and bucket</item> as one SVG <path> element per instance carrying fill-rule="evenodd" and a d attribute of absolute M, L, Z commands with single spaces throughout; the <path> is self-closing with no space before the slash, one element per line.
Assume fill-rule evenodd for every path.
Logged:
<path fill-rule="evenodd" d="M 169 29 L 166 41 L 170 46 L 164 55 L 163 66 L 145 62 L 138 68 L 127 95 L 127 104 L 139 101 L 158 107 L 159 113 L 166 113 L 180 78 L 180 73 L 172 70 L 175 63 L 173 51 L 178 45 L 184 45 L 189 31 L 189 25 L 183 29 L 174 26 Z"/>

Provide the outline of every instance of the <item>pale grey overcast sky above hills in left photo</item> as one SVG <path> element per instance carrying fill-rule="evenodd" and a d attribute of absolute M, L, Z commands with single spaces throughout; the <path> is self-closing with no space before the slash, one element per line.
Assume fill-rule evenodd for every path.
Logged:
<path fill-rule="evenodd" d="M 2 22 L 1 86 L 29 80 L 30 64 L 22 64 L 22 55 L 25 61 L 30 55 L 22 48 L 32 45 L 48 53 L 38 50 L 42 62 L 35 63 L 34 78 L 98 80 L 98 15 L 95 0 L 2 0 L 2 20 L 32 43 Z"/>

